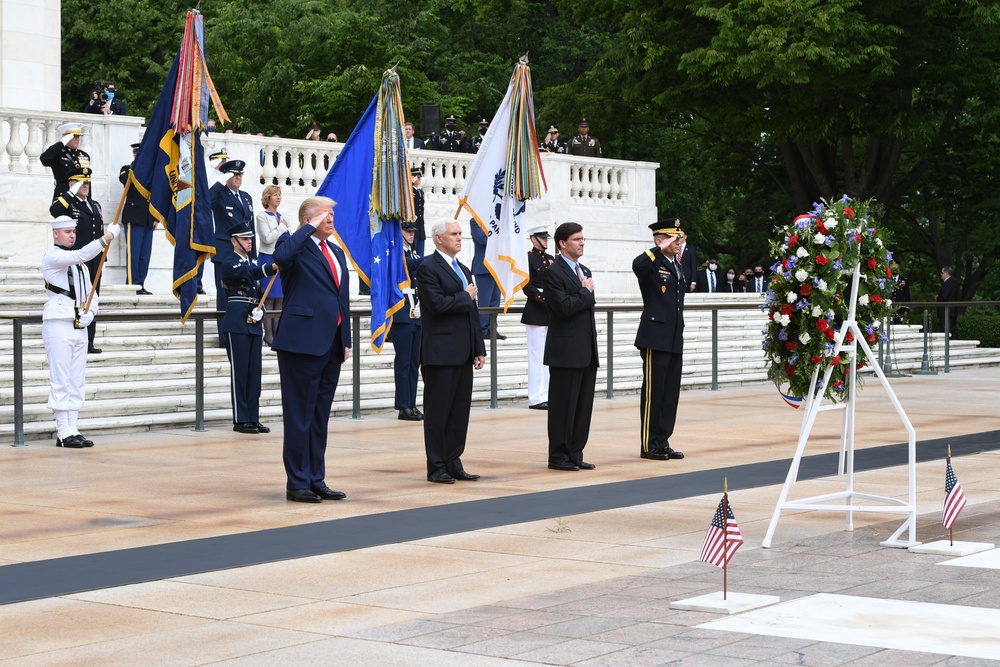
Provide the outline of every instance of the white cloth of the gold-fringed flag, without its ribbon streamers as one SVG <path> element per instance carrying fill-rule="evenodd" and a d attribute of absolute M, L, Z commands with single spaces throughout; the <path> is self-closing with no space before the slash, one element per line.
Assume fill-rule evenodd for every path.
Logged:
<path fill-rule="evenodd" d="M 514 294 L 528 284 L 525 202 L 508 194 L 511 188 L 507 187 L 508 135 L 515 113 L 513 94 L 511 77 L 507 95 L 486 131 L 459 199 L 487 235 L 485 264 L 500 287 L 504 311 L 514 302 Z"/>

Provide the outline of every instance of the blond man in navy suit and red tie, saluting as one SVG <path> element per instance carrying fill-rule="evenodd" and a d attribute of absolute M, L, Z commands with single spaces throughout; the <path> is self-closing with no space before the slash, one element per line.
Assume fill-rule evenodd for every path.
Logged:
<path fill-rule="evenodd" d="M 351 302 L 344 251 L 330 240 L 333 206 L 309 197 L 299 207 L 299 229 L 278 238 L 284 304 L 271 346 L 281 375 L 282 458 L 286 497 L 300 503 L 341 500 L 326 485 L 326 436 L 340 366 L 351 348 Z"/>

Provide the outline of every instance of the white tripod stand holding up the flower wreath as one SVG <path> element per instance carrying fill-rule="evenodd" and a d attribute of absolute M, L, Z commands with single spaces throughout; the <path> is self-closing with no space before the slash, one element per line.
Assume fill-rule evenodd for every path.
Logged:
<path fill-rule="evenodd" d="M 817 365 L 813 370 L 812 384 L 810 385 L 811 389 L 806 400 L 806 412 L 802 416 L 802 427 L 799 430 L 799 444 L 795 450 L 795 456 L 792 458 L 792 464 L 788 468 L 788 476 L 785 478 L 785 486 L 781 489 L 781 495 L 778 497 L 778 504 L 775 506 L 774 514 L 771 516 L 771 524 L 767 527 L 767 535 L 764 536 L 764 541 L 761 544 L 761 546 L 765 549 L 771 546 L 771 538 L 774 536 L 774 531 L 778 526 L 778 518 L 781 516 L 782 510 L 786 509 L 846 512 L 847 530 L 854 530 L 854 512 L 891 512 L 906 514 L 907 519 L 903 525 L 901 525 L 899 529 L 896 530 L 891 537 L 889 537 L 889 539 L 881 542 L 881 545 L 884 547 L 905 549 L 907 547 L 920 544 L 920 542 L 917 541 L 917 434 L 916 431 L 913 430 L 913 425 L 910 424 L 910 420 L 907 418 L 906 413 L 903 411 L 903 407 L 899 404 L 896 394 L 893 393 L 892 387 L 889 386 L 889 381 L 882 373 L 882 369 L 879 367 L 879 364 L 875 359 L 875 355 L 872 354 L 871 348 L 865 341 L 864 332 L 862 332 L 861 328 L 858 326 L 857 305 L 858 285 L 860 281 L 861 266 L 859 262 L 859 265 L 854 268 L 852 277 L 850 312 L 848 313 L 847 320 L 840 326 L 840 330 L 837 331 L 837 335 L 834 337 L 834 344 L 836 346 L 834 347 L 834 355 L 846 353 L 850 363 L 851 372 L 848 374 L 847 400 L 842 403 L 830 403 L 828 405 L 823 405 L 823 391 L 826 388 L 827 383 L 830 381 L 830 376 L 833 374 L 833 367 L 829 365 L 826 366 L 823 373 L 823 384 L 817 389 L 816 380 L 819 377 L 819 371 L 821 368 L 821 366 Z M 854 334 L 854 340 L 846 343 L 844 339 L 848 331 Z M 903 422 L 903 426 L 906 427 L 906 433 L 908 436 L 908 471 L 910 488 L 905 502 L 897 498 L 873 496 L 867 493 L 859 493 L 854 490 L 854 407 L 858 396 L 858 345 L 861 346 L 861 349 L 864 352 L 868 367 L 875 371 L 879 382 L 882 383 L 882 388 L 885 389 L 885 393 L 888 394 L 889 400 L 892 401 L 892 405 L 896 409 L 896 414 L 899 415 L 900 420 Z M 799 463 L 802 460 L 802 453 L 805 451 L 809 435 L 816 423 L 816 415 L 820 412 L 828 410 L 844 411 L 844 419 L 840 430 L 840 461 L 837 465 L 837 474 L 846 476 L 847 488 L 844 491 L 838 491 L 836 493 L 827 493 L 799 500 L 789 500 L 788 493 L 791 491 L 792 485 L 795 484 L 798 478 Z M 841 502 L 838 503 L 833 501 Z M 855 501 L 881 504 L 856 505 L 854 504 Z M 900 539 L 900 535 L 902 535 L 907 529 L 909 529 L 908 538 Z"/>

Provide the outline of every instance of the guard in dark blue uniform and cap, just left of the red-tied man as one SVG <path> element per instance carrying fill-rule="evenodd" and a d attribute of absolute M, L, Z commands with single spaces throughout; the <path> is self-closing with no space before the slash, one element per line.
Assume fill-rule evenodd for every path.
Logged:
<path fill-rule="evenodd" d="M 233 430 L 270 433 L 271 429 L 260 423 L 260 349 L 264 335 L 260 279 L 277 273 L 277 266 L 258 266 L 251 260 L 253 231 L 245 222 L 233 225 L 228 233 L 229 250 L 215 268 L 221 276 L 226 299 L 226 314 L 220 327 L 232 367 Z"/>

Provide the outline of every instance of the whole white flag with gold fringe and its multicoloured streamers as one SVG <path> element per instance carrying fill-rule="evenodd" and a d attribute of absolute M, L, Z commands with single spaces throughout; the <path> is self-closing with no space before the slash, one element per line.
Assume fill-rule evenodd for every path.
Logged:
<path fill-rule="evenodd" d="M 514 67 L 459 198 L 459 210 L 465 208 L 487 236 L 484 264 L 503 295 L 504 311 L 528 283 L 525 202 L 541 197 L 543 188 L 531 71 L 524 56 Z"/>

